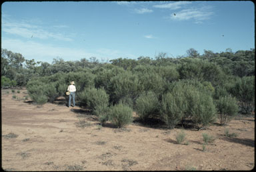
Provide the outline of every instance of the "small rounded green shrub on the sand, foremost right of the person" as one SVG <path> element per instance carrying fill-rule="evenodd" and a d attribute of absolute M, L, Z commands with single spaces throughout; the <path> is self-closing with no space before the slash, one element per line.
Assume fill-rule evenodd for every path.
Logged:
<path fill-rule="evenodd" d="M 109 118 L 117 128 L 123 128 L 132 122 L 133 110 L 129 106 L 116 104 L 111 107 Z"/>

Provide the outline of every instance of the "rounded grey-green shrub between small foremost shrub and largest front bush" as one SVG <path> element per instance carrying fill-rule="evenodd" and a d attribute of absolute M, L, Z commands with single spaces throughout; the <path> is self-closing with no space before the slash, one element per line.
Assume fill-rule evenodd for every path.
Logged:
<path fill-rule="evenodd" d="M 136 112 L 141 120 L 155 116 L 159 111 L 159 100 L 154 92 L 143 93 L 136 100 Z"/>

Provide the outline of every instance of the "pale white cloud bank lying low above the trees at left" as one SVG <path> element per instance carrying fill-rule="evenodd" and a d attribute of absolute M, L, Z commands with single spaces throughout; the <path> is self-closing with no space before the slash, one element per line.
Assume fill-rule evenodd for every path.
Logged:
<path fill-rule="evenodd" d="M 63 58 L 63 60 L 80 60 L 81 58 L 89 59 L 95 56 L 101 60 L 111 60 L 114 58 L 136 58 L 134 54 L 123 52 L 120 50 L 113 50 L 109 48 L 99 48 L 95 52 L 81 49 L 70 48 L 63 46 L 55 46 L 53 44 L 36 43 L 35 41 L 21 41 L 19 39 L 5 39 L 1 40 L 1 47 L 11 50 L 12 52 L 21 53 L 25 59 L 36 61 L 43 61 L 51 63 L 53 58 Z"/>

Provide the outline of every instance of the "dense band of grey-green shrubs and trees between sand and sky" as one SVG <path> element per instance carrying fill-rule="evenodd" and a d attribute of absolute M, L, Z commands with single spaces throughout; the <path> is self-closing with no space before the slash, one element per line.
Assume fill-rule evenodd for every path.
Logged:
<path fill-rule="evenodd" d="M 118 127 L 131 122 L 133 111 L 141 122 L 161 120 L 169 128 L 203 128 L 217 118 L 224 125 L 238 113 L 255 111 L 255 49 L 200 55 L 190 48 L 177 58 L 161 52 L 154 59 L 56 58 L 52 64 L 1 50 L 2 87 L 26 86 L 37 104 L 65 96 L 71 80 L 79 106 Z"/>

